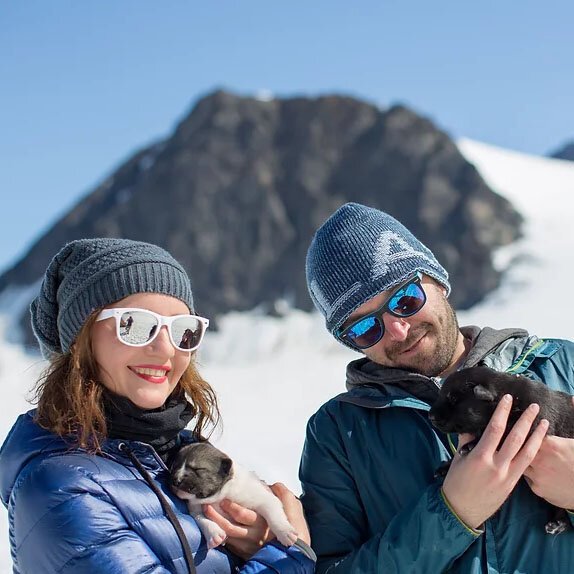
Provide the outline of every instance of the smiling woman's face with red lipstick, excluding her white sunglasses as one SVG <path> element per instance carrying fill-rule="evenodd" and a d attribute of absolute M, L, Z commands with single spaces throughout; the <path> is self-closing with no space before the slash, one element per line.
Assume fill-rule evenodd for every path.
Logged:
<path fill-rule="evenodd" d="M 183 301 L 159 293 L 136 293 L 106 308 L 113 307 L 137 307 L 166 316 L 189 313 Z M 94 323 L 92 350 L 103 385 L 143 409 L 165 403 L 191 359 L 190 353 L 172 345 L 165 325 L 145 347 L 124 345 L 116 336 L 113 318 Z"/>

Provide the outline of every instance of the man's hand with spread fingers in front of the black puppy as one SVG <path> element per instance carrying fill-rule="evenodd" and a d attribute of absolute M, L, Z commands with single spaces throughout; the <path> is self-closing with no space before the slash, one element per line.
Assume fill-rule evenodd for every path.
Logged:
<path fill-rule="evenodd" d="M 548 429 L 548 421 L 542 420 L 526 440 L 540 410 L 538 405 L 530 405 L 497 450 L 511 406 L 512 397 L 505 395 L 480 441 L 469 454 L 455 456 L 444 481 L 444 496 L 471 528 L 478 528 L 508 498 L 534 460 Z M 470 438 L 471 435 L 461 435 L 459 448 Z"/>

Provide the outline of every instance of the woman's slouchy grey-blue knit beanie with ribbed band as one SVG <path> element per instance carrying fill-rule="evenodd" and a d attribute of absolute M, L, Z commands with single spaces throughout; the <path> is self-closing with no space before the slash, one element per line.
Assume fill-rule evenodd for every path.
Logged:
<path fill-rule="evenodd" d="M 32 301 L 32 328 L 42 354 L 66 353 L 96 310 L 134 293 L 163 293 L 193 312 L 191 283 L 164 249 L 129 239 L 78 239 L 52 259 Z"/>

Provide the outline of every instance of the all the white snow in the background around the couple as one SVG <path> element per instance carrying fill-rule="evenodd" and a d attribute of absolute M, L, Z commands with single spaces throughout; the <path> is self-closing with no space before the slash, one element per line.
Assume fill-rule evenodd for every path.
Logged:
<path fill-rule="evenodd" d="M 497 254 L 497 265 L 505 271 L 502 286 L 480 305 L 459 313 L 460 323 L 524 327 L 541 336 L 570 338 L 574 163 L 470 140 L 461 140 L 459 148 L 525 218 L 523 239 Z M 0 440 L 28 408 L 26 398 L 43 367 L 41 359 L 14 343 L 14 316 L 28 300 L 28 293 L 16 291 L 0 298 Z M 223 414 L 212 441 L 264 480 L 283 481 L 298 493 L 306 421 L 323 402 L 344 391 L 345 365 L 359 355 L 332 340 L 317 314 L 291 310 L 272 318 L 230 313 L 220 323 L 218 333 L 206 335 L 198 358 Z M 4 574 L 11 571 L 11 562 L 7 514 L 0 512 Z"/>

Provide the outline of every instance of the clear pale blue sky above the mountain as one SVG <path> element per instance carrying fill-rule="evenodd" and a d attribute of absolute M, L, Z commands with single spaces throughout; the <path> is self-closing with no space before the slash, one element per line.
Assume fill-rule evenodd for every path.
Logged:
<path fill-rule="evenodd" d="M 404 103 L 533 154 L 574 139 L 574 3 L 1 0 L 0 270 L 205 93 Z"/>

